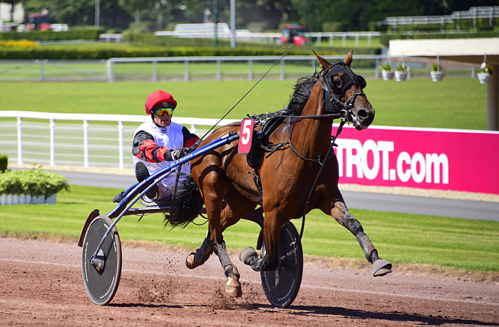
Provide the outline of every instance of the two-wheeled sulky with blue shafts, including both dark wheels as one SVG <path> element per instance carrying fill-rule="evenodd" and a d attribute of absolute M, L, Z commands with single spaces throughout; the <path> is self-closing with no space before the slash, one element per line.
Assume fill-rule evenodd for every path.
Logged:
<path fill-rule="evenodd" d="M 124 215 L 143 215 L 147 213 L 166 213 L 170 206 L 153 206 L 132 208 L 142 196 L 170 174 L 177 171 L 178 166 L 197 158 L 207 151 L 217 149 L 224 144 L 240 139 L 240 134 L 230 132 L 215 141 L 196 149 L 187 156 L 172 162 L 140 183 L 130 186 L 123 195 L 125 198 L 106 215 L 93 210 L 88 216 L 78 240 L 83 247 L 82 272 L 83 282 L 88 296 L 95 304 L 106 305 L 115 295 L 121 274 L 121 245 L 115 225 Z M 202 209 L 202 213 L 205 209 Z M 115 219 L 114 222 L 111 219 Z M 259 207 L 242 219 L 257 223 L 263 230 L 263 208 Z M 207 242 L 207 240 L 205 240 Z M 96 244 L 98 244 L 96 246 Z M 95 249 L 95 250 L 93 250 Z M 257 240 L 257 249 L 264 256 L 265 245 L 263 233 Z M 300 235 L 292 223 L 283 226 L 279 240 L 279 257 L 281 264 L 276 271 L 260 272 L 262 286 L 270 303 L 278 307 L 287 307 L 296 298 L 302 282 L 303 252 Z M 286 277 L 286 278 L 282 278 Z"/>

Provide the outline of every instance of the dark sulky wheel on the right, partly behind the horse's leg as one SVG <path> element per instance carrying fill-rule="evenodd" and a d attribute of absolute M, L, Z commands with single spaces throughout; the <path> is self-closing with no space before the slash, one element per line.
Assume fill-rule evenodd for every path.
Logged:
<path fill-rule="evenodd" d="M 265 255 L 265 242 L 260 257 Z M 282 226 L 279 239 L 279 267 L 275 271 L 260 272 L 262 286 L 272 306 L 286 308 L 297 297 L 302 284 L 303 250 L 299 233 L 291 222 Z"/>

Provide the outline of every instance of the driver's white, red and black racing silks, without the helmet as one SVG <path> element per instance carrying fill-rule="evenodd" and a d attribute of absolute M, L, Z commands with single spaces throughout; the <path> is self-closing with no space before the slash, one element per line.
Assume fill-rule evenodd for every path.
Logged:
<path fill-rule="evenodd" d="M 186 127 L 182 127 L 174 122 L 168 127 L 158 127 L 150 119 L 148 122 L 141 124 L 135 130 L 133 135 L 133 171 L 135 165 L 139 161 L 143 161 L 152 175 L 156 171 L 165 168 L 172 161 L 168 150 L 178 150 L 184 146 L 192 146 L 199 138 L 195 134 L 191 134 Z M 167 158 L 165 158 L 165 154 Z M 180 170 L 181 173 L 190 173 L 190 163 L 184 164 Z M 161 186 L 162 195 L 171 196 L 175 188 L 175 179 L 177 174 L 173 173 L 163 179 L 158 186 Z M 182 181 L 182 176 L 180 181 Z"/>

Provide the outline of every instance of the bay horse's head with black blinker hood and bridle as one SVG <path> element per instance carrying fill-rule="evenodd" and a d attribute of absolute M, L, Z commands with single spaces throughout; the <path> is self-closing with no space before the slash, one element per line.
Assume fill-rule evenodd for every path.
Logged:
<path fill-rule="evenodd" d="M 315 52 L 314 55 L 322 68 L 318 80 L 324 90 L 324 110 L 352 122 L 358 130 L 369 127 L 374 119 L 374 109 L 363 91 L 366 80 L 350 69 L 351 52 L 343 61 L 333 63 Z"/>

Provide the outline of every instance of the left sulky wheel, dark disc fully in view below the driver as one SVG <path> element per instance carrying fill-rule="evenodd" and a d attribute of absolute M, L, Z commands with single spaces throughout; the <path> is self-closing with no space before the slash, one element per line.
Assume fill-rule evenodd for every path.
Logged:
<path fill-rule="evenodd" d="M 93 303 L 101 306 L 105 306 L 113 299 L 121 276 L 121 243 L 116 227 L 109 232 L 92 263 L 93 253 L 96 252 L 111 224 L 113 221 L 105 215 L 92 220 L 83 241 L 81 256 L 85 289 Z"/>

